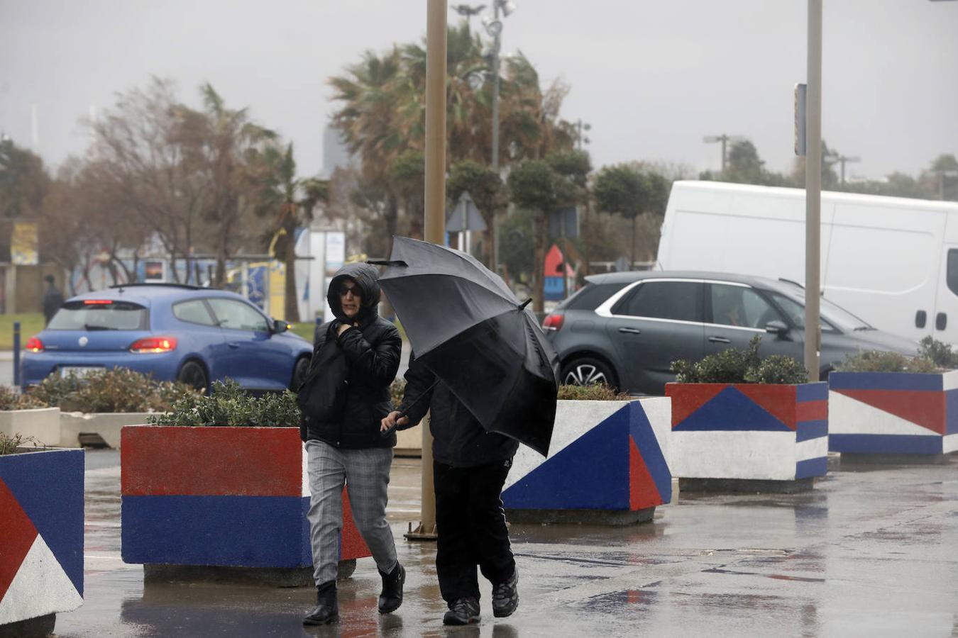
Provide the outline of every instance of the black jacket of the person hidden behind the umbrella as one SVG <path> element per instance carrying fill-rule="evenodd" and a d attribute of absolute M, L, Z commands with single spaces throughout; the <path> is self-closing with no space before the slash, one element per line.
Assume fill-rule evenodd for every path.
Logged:
<path fill-rule="evenodd" d="M 519 442 L 504 434 L 488 432 L 459 399 L 440 382 L 434 388 L 435 375 L 411 357 L 406 370 L 406 391 L 399 411 L 409 417 L 412 428 L 430 410 L 432 457 L 454 468 L 471 468 L 510 459 Z M 422 397 L 422 398 L 421 398 Z M 417 401 L 418 400 L 418 401 Z"/>

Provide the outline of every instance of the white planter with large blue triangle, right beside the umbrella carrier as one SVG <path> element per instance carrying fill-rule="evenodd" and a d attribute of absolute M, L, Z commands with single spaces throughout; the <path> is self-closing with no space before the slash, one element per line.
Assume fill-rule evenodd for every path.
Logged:
<path fill-rule="evenodd" d="M 549 456 L 520 446 L 502 501 L 511 521 L 624 524 L 672 499 L 670 402 L 559 401 Z"/>

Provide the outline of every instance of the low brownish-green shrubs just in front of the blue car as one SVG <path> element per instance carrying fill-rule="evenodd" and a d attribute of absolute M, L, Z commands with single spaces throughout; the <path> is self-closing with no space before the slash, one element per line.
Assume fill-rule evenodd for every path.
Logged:
<path fill-rule="evenodd" d="M 157 382 L 132 370 L 103 368 L 85 377 L 70 373 L 51 375 L 28 390 L 48 406 L 80 412 L 166 411 L 184 394 L 194 394 L 189 385 Z"/>

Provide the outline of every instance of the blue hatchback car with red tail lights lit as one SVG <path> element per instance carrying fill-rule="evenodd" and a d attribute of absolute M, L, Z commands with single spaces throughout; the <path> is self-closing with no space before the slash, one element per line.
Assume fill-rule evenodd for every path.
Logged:
<path fill-rule="evenodd" d="M 312 346 L 234 293 L 128 284 L 65 301 L 23 355 L 24 385 L 51 374 L 125 367 L 209 390 L 226 377 L 253 391 L 296 388 Z"/>

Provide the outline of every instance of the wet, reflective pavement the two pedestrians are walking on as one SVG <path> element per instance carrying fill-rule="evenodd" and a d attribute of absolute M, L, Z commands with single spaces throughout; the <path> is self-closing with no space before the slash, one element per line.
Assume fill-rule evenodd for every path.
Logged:
<path fill-rule="evenodd" d="M 57 636 L 958 636 L 958 455 L 843 467 L 798 495 L 678 495 L 631 527 L 513 525 L 520 604 L 444 627 L 420 463 L 396 459 L 389 519 L 405 601 L 376 613 L 372 559 L 339 583 L 341 621 L 303 627 L 315 590 L 144 585 L 120 558 L 120 459 L 86 455 L 85 602 Z"/>

